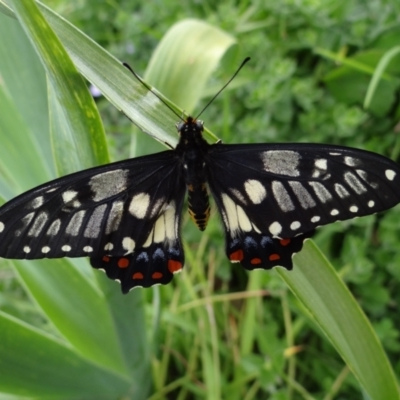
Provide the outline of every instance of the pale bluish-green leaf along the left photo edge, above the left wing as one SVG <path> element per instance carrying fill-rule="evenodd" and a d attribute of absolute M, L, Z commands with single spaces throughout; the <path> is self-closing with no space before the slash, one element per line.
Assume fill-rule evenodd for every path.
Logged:
<path fill-rule="evenodd" d="M 0 181 L 9 198 L 49 180 L 54 165 L 43 67 L 18 22 L 0 21 Z"/>

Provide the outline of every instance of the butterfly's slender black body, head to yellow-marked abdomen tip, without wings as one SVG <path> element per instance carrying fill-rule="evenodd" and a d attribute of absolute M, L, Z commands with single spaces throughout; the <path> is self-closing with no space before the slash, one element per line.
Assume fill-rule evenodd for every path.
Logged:
<path fill-rule="evenodd" d="M 210 145 L 203 138 L 202 121 L 188 117 L 177 125 L 177 129 L 180 140 L 176 151 L 188 189 L 188 211 L 193 222 L 203 231 L 210 216 L 205 162 Z"/>

